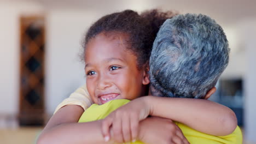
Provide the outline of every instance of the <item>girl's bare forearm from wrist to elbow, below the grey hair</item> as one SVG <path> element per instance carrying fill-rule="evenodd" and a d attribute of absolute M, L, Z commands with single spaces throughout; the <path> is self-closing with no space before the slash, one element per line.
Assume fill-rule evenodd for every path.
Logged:
<path fill-rule="evenodd" d="M 224 136 L 237 127 L 235 113 L 224 105 L 205 99 L 143 97 L 149 115 L 170 118 L 202 133 Z"/>

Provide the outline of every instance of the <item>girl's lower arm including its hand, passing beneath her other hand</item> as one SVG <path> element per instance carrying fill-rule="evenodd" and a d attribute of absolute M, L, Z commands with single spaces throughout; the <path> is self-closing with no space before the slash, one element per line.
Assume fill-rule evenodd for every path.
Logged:
<path fill-rule="evenodd" d="M 101 133 L 101 121 L 77 123 L 83 112 L 83 108 L 78 105 L 62 107 L 51 117 L 37 143 L 113 143 L 113 140 L 104 141 Z M 159 127 L 162 127 L 161 130 L 155 133 L 155 128 Z M 188 143 L 182 135 L 182 131 L 172 121 L 153 117 L 139 122 L 137 138 L 149 144 L 170 141 L 176 144 Z"/>

